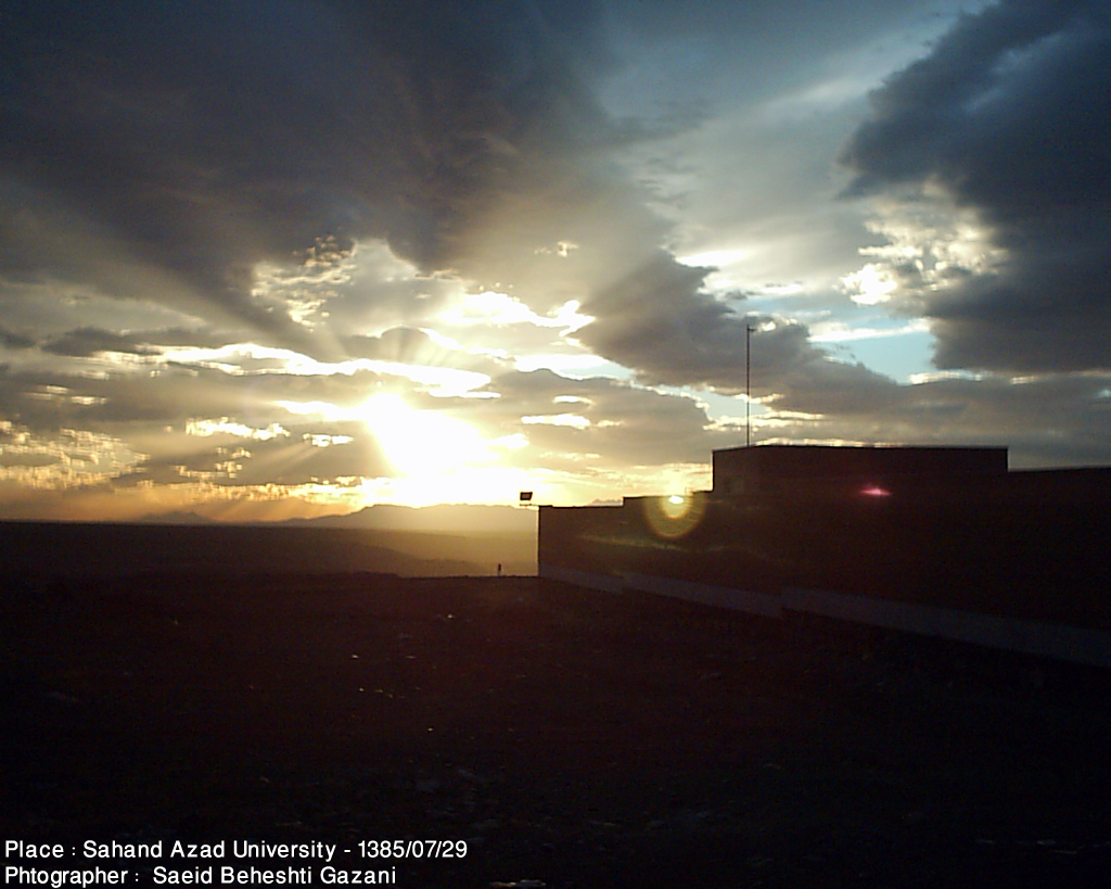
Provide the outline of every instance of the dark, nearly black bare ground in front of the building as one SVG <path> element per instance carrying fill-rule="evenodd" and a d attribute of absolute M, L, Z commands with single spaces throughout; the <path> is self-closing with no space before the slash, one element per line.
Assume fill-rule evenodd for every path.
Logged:
<path fill-rule="evenodd" d="M 0 610 L 0 840 L 467 841 L 392 861 L 414 888 L 1111 885 L 1100 673 L 532 578 Z"/>

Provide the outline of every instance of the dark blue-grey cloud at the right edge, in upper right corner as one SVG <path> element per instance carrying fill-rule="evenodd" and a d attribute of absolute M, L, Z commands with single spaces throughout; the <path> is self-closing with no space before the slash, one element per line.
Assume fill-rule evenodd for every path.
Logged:
<path fill-rule="evenodd" d="M 1104 0 L 1012 0 L 963 17 L 873 94 L 843 154 L 849 193 L 940 188 L 1003 251 L 940 288 L 893 268 L 934 321 L 939 367 L 1111 367 L 1109 58 Z"/>

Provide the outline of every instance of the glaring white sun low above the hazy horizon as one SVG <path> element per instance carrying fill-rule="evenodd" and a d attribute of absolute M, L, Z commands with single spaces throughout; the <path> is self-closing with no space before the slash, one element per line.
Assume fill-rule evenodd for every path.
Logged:
<path fill-rule="evenodd" d="M 490 459 L 486 443 L 469 423 L 414 410 L 400 396 L 377 394 L 363 404 L 361 413 L 402 476 L 438 476 Z"/>

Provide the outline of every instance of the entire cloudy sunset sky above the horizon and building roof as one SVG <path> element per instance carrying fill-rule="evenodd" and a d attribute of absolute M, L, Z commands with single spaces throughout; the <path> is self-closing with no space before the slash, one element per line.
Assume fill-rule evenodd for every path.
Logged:
<path fill-rule="evenodd" d="M 1109 44 L 1107 0 L 4 2 L 0 518 L 1111 463 Z"/>

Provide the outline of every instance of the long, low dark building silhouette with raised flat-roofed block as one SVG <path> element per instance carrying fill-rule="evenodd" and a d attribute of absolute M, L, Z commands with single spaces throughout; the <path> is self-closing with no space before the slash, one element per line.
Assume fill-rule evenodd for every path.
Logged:
<path fill-rule="evenodd" d="M 541 507 L 541 577 L 827 617 L 1111 667 L 1111 468 L 1005 448 L 760 444 L 713 488 Z"/>

